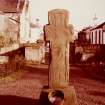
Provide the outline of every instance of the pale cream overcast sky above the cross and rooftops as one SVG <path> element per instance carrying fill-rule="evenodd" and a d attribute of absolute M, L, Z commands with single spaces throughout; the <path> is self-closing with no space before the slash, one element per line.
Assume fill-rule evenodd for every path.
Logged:
<path fill-rule="evenodd" d="M 70 12 L 70 23 L 76 29 L 93 23 L 96 14 L 99 20 L 105 20 L 105 0 L 30 0 L 32 21 L 40 19 L 40 24 L 48 23 L 48 11 L 67 9 Z"/>

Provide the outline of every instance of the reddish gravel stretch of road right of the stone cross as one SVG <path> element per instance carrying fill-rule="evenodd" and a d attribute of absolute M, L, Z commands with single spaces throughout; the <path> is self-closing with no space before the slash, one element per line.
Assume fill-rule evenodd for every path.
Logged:
<path fill-rule="evenodd" d="M 74 67 L 70 82 L 75 87 L 79 105 L 105 105 L 105 81 L 92 78 L 84 68 Z"/>

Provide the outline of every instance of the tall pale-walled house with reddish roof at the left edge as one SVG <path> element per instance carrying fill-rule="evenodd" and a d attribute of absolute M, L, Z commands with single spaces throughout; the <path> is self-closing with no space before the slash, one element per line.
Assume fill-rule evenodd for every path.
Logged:
<path fill-rule="evenodd" d="M 3 36 L 0 38 L 4 39 L 0 40 L 0 45 L 4 44 L 0 48 L 8 46 L 12 48 L 14 44 L 19 46 L 21 36 L 29 35 L 28 7 L 28 0 L 0 0 L 0 36 Z M 8 50 L 4 53 L 6 52 Z"/>

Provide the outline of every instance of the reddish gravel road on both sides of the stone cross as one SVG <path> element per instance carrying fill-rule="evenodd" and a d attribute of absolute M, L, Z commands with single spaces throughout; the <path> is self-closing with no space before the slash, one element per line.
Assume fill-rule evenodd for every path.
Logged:
<path fill-rule="evenodd" d="M 0 102 L 2 105 L 38 105 L 41 89 L 47 84 L 46 68 L 27 67 L 21 78 L 0 84 Z M 75 87 L 78 105 L 105 105 L 105 82 L 92 78 L 84 68 L 70 67 L 70 85 Z"/>

